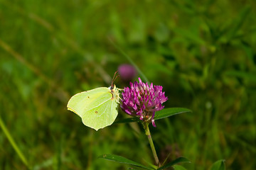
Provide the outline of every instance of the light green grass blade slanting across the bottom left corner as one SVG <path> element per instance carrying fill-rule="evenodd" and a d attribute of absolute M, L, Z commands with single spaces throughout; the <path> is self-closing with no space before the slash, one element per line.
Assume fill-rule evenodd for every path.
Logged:
<path fill-rule="evenodd" d="M 11 136 L 10 132 L 7 130 L 6 125 L 4 125 L 4 122 L 1 119 L 1 117 L 0 117 L 0 127 L 4 131 L 4 134 L 6 135 L 9 142 L 11 143 L 11 146 L 14 147 L 14 150 L 18 154 L 18 157 L 20 157 L 23 164 L 25 164 L 29 169 L 29 165 L 28 165 L 28 161 L 27 161 L 26 157 L 24 157 L 21 150 L 18 148 L 18 145 L 16 145 L 16 142 L 14 141 L 14 138 Z"/>

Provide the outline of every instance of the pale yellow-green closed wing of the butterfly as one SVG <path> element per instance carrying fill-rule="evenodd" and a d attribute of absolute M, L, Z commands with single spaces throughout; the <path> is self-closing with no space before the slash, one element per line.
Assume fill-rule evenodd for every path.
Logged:
<path fill-rule="evenodd" d="M 86 126 L 99 130 L 117 118 L 117 101 L 112 96 L 107 87 L 84 91 L 70 98 L 68 110 L 77 113 Z"/>

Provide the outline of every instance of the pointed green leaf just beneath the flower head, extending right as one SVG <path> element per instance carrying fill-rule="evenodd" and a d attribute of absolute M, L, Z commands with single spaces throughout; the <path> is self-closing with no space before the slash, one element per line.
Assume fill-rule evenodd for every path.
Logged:
<path fill-rule="evenodd" d="M 154 117 L 154 120 L 159 120 L 161 118 L 167 118 L 171 115 L 177 115 L 180 113 L 189 113 L 192 112 L 188 108 L 164 108 L 161 111 L 157 111 Z"/>

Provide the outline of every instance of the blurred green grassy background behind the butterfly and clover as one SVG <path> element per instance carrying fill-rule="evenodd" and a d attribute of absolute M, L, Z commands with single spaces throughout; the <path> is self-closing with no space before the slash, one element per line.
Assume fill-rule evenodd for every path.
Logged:
<path fill-rule="evenodd" d="M 150 127 L 161 161 L 256 169 L 255 16 L 249 0 L 0 0 L 1 120 L 33 169 L 127 169 L 100 154 L 153 163 L 140 125 L 96 132 L 66 109 L 129 63 L 112 40 L 164 86 L 166 108 L 193 111 Z M 27 169 L 2 129 L 0 169 Z"/>

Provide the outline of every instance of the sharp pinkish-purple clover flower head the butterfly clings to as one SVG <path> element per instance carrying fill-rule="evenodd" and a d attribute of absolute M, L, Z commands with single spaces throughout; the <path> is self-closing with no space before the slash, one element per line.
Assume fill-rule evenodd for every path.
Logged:
<path fill-rule="evenodd" d="M 163 109 L 162 103 L 168 100 L 162 89 L 162 86 L 153 86 L 152 83 L 150 86 L 144 84 L 140 78 L 139 83 L 130 82 L 130 88 L 125 87 L 122 92 L 121 108 L 127 114 L 139 117 L 140 120 L 151 120 L 152 125 L 156 127 L 154 114 Z"/>

